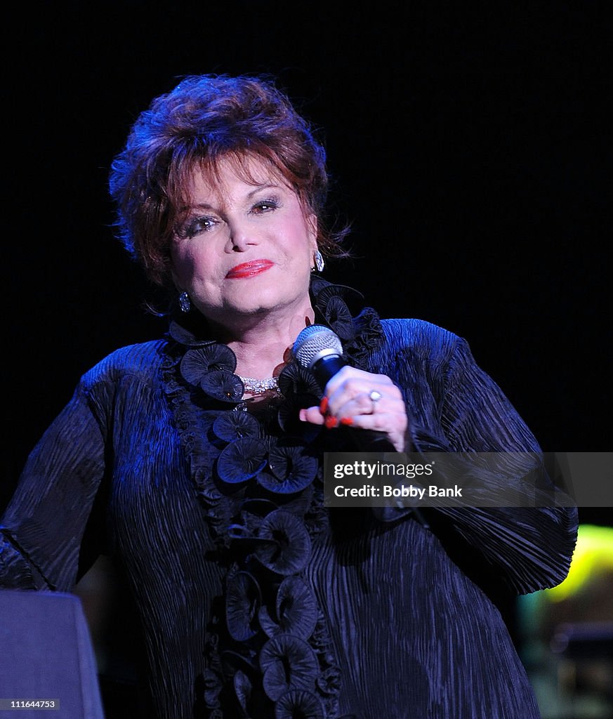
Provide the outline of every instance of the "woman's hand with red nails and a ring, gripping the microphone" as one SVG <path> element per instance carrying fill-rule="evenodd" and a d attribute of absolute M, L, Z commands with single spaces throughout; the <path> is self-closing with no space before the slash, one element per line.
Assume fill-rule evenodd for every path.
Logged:
<path fill-rule="evenodd" d="M 405 450 L 409 423 L 405 400 L 387 375 L 343 367 L 326 385 L 321 405 L 301 409 L 300 419 L 328 429 L 346 424 L 382 431 L 398 452 Z"/>

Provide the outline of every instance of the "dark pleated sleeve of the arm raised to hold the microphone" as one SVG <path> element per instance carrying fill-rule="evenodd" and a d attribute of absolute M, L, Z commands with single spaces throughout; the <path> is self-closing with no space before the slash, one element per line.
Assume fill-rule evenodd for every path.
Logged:
<path fill-rule="evenodd" d="M 393 348 L 395 379 L 415 418 L 414 449 L 530 453 L 525 457 L 534 457 L 534 466 L 517 467 L 517 472 L 538 472 L 540 483 L 548 484 L 538 441 L 497 383 L 476 365 L 464 339 L 420 321 L 382 324 L 392 345 L 388 349 Z M 466 465 L 466 476 L 479 471 L 478 462 Z M 488 476 L 489 486 L 481 482 L 484 493 L 506 490 L 495 482 L 509 478 Z M 521 480 L 518 475 L 517 487 Z M 576 543 L 574 507 L 441 506 L 435 511 L 451 524 L 458 539 L 481 555 L 481 569 L 492 574 L 489 580 L 502 582 L 514 593 L 553 587 L 568 573 Z"/>

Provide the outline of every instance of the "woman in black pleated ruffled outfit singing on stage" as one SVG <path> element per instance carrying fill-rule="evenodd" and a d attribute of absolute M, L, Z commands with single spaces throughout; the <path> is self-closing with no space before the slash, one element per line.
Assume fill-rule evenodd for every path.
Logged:
<path fill-rule="evenodd" d="M 365 429 L 399 452 L 538 444 L 463 340 L 321 278 L 325 155 L 287 98 L 185 78 L 137 119 L 111 194 L 170 329 L 84 375 L 34 449 L 4 585 L 70 591 L 86 545 L 109 547 L 163 718 L 538 716 L 490 595 L 561 582 L 573 511 L 323 506 L 323 452 Z M 323 394 L 291 352 L 313 323 L 347 365 Z"/>

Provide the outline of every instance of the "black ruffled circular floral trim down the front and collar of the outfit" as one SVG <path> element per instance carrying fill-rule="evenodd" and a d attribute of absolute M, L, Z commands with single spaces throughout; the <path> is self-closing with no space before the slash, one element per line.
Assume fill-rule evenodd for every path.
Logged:
<path fill-rule="evenodd" d="M 377 313 L 352 313 L 361 295 L 321 278 L 313 279 L 311 293 L 315 321 L 338 334 L 349 364 L 366 367 L 383 338 Z M 279 377 L 282 403 L 256 417 L 241 400 L 234 353 L 203 337 L 198 313 L 172 321 L 162 363 L 180 442 L 226 567 L 197 705 L 216 719 L 336 718 L 341 674 L 302 576 L 328 515 L 326 433 L 300 422 L 298 409 L 318 403 L 321 391 L 309 372 L 290 363 Z"/>

